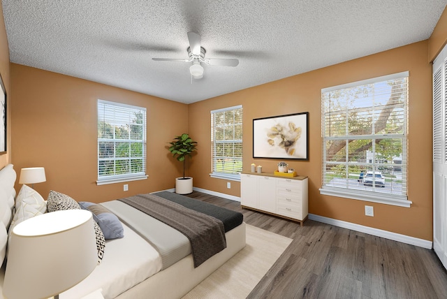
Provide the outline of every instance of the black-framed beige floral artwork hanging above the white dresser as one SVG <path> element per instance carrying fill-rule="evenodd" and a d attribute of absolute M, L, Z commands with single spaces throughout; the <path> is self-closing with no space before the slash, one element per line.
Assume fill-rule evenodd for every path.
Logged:
<path fill-rule="evenodd" d="M 309 112 L 253 119 L 253 158 L 309 160 Z"/>

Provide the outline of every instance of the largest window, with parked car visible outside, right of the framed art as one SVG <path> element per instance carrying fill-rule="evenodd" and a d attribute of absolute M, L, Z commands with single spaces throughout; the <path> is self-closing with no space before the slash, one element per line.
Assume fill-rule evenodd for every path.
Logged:
<path fill-rule="evenodd" d="M 321 194 L 409 207 L 408 72 L 321 90 Z"/>

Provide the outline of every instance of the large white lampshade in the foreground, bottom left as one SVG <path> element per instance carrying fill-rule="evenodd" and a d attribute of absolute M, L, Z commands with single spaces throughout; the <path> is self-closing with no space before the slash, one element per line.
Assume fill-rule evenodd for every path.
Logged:
<path fill-rule="evenodd" d="M 97 263 L 91 212 L 41 214 L 13 228 L 3 295 L 8 299 L 55 296 L 85 279 Z"/>

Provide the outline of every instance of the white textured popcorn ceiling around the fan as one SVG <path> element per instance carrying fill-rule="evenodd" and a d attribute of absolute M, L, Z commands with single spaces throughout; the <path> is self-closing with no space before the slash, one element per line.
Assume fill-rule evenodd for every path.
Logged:
<path fill-rule="evenodd" d="M 423 41 L 447 0 L 2 0 L 10 61 L 182 103 Z M 202 36 L 193 80 L 188 31 Z"/>

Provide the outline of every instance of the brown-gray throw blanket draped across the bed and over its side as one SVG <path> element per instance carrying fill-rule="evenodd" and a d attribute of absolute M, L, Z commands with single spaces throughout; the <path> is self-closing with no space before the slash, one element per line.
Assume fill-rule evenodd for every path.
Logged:
<path fill-rule="evenodd" d="M 189 210 L 153 194 L 140 194 L 119 200 L 184 234 L 191 242 L 194 268 L 226 248 L 225 231 L 219 219 Z"/>

